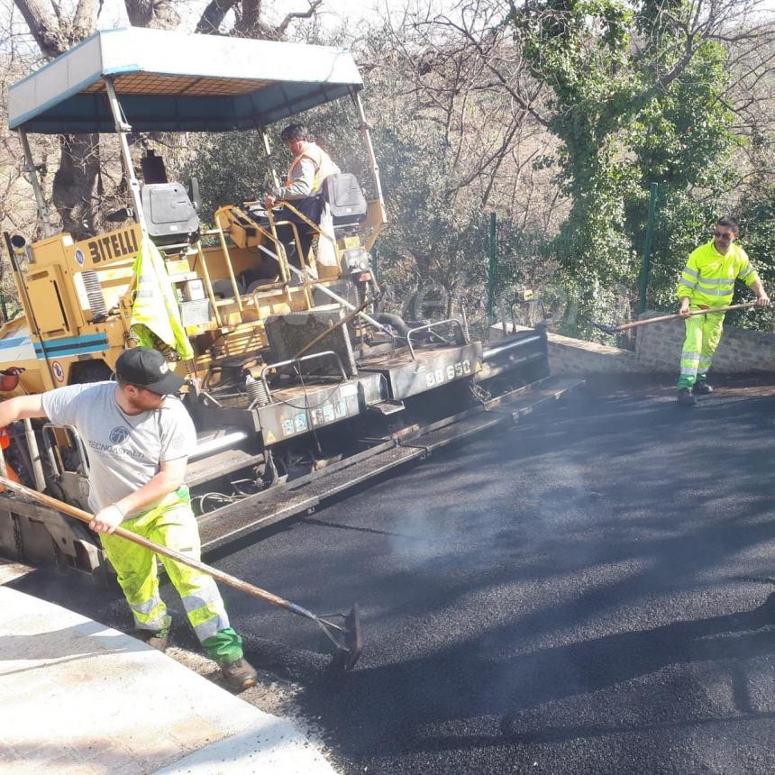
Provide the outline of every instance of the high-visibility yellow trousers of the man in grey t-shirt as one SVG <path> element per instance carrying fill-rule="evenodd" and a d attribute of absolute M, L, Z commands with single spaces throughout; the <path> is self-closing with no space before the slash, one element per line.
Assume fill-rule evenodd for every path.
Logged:
<path fill-rule="evenodd" d="M 122 527 L 155 543 L 199 560 L 201 544 L 187 488 L 178 490 L 169 506 L 160 506 Z M 157 557 L 150 550 L 116 535 L 102 534 L 103 548 L 113 565 L 124 597 L 132 608 L 138 629 L 159 632 L 169 628 L 171 617 L 159 595 Z M 229 625 L 223 598 L 211 576 L 167 557 L 159 558 L 169 580 L 178 590 L 188 620 L 205 651 L 214 659 L 242 657 L 242 638 Z M 206 642 L 206 643 L 205 643 Z"/>

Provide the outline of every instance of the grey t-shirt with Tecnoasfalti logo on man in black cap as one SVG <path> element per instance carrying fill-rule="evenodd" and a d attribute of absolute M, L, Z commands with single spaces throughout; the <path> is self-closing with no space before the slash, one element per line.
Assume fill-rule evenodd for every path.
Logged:
<path fill-rule="evenodd" d="M 43 409 L 57 425 L 74 425 L 89 458 L 89 507 L 98 511 L 146 484 L 165 460 L 187 458 L 196 431 L 186 407 L 168 396 L 164 406 L 125 415 L 115 382 L 59 387 L 43 394 Z"/>

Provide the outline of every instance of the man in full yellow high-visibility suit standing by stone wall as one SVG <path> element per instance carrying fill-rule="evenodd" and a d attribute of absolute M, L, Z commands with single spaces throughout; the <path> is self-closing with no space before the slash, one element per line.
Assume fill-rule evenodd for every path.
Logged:
<path fill-rule="evenodd" d="M 739 226 L 725 216 L 716 222 L 713 240 L 701 245 L 688 257 L 678 286 L 680 315 L 687 316 L 686 339 L 680 357 L 679 404 L 694 406 L 697 396 L 713 391 L 707 384 L 707 370 L 721 341 L 724 313 L 688 317 L 700 309 L 732 304 L 734 281 L 741 280 L 756 294 L 756 305 L 768 306 L 770 296 L 751 266 L 743 248 L 734 244 Z"/>

